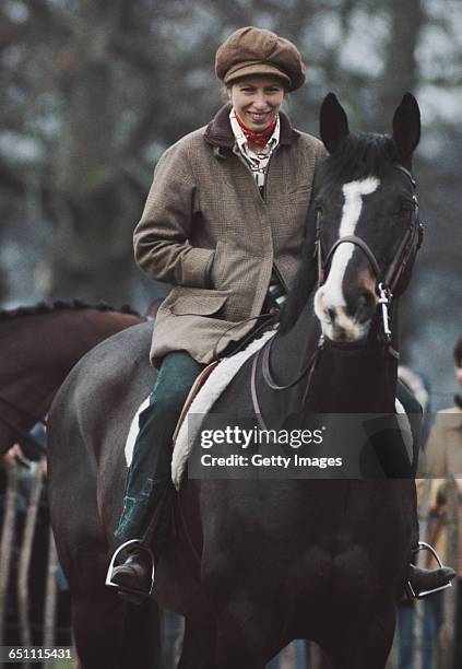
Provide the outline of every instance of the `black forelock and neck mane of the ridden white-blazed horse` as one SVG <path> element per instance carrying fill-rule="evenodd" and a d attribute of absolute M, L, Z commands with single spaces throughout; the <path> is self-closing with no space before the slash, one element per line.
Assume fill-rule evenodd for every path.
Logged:
<path fill-rule="evenodd" d="M 322 161 L 316 175 L 316 183 L 330 188 L 368 176 L 382 178 L 399 162 L 396 146 L 390 136 L 357 132 L 348 134 L 340 149 Z M 307 224 L 309 221 L 308 216 Z M 313 258 L 315 232 L 313 228 L 306 231 L 300 267 L 281 314 L 281 332 L 287 332 L 295 325 L 317 285 L 318 274 Z"/>

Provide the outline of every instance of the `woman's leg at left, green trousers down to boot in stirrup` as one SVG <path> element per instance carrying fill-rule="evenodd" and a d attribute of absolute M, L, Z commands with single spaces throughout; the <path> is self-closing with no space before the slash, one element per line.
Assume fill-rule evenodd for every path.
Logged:
<path fill-rule="evenodd" d="M 106 585 L 138 602 L 149 596 L 154 578 L 154 555 L 167 542 L 175 500 L 171 483 L 171 438 L 189 390 L 204 365 L 185 351 L 162 362 L 150 406 L 140 414 L 123 496 L 123 510 L 115 536 L 122 541 L 109 565 Z M 127 544 L 127 548 L 123 548 Z M 115 566 L 125 553 L 125 562 Z"/>

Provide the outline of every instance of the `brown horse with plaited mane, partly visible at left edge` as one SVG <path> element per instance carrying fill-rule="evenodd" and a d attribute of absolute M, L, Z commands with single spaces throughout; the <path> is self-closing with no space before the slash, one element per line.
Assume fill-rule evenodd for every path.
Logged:
<path fill-rule="evenodd" d="M 27 439 L 84 353 L 142 320 L 129 307 L 80 301 L 0 310 L 0 455 Z"/>

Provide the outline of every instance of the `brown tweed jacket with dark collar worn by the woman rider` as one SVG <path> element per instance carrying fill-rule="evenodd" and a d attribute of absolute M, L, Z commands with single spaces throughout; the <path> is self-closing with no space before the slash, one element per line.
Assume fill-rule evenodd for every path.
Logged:
<path fill-rule="evenodd" d="M 261 313 L 273 263 L 286 287 L 296 274 L 316 164 L 323 144 L 281 114 L 264 197 L 235 153 L 229 105 L 158 161 L 134 231 L 139 266 L 174 284 L 154 326 L 151 360 L 185 350 L 209 363 L 239 341 Z M 214 256 L 213 256 L 214 254 Z M 212 284 L 206 283 L 208 263 Z M 226 332 L 235 326 L 229 332 Z"/>

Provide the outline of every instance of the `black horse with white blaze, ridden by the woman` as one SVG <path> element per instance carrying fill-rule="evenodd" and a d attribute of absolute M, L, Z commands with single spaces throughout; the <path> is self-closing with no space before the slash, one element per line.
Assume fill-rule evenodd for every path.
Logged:
<path fill-rule="evenodd" d="M 276 424 L 300 406 L 307 413 L 393 413 L 394 308 L 390 321 L 384 312 L 390 291 L 394 305 L 405 290 L 418 247 L 410 171 L 419 131 L 410 94 L 392 137 L 351 134 L 335 96 L 325 98 L 321 138 L 331 155 L 316 177 L 281 328 L 270 353 L 241 367 L 214 412 L 261 411 Z M 104 586 L 123 444 L 154 377 L 150 338 L 141 325 L 91 352 L 51 409 L 51 519 L 85 669 L 156 666 L 152 600 L 135 610 Z M 332 669 L 383 669 L 416 540 L 414 513 L 411 478 L 186 479 L 154 587 L 161 605 L 186 617 L 179 668 L 263 669 L 292 639 L 309 638 Z"/>

